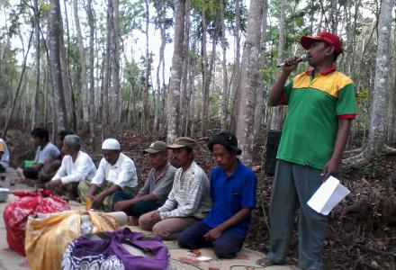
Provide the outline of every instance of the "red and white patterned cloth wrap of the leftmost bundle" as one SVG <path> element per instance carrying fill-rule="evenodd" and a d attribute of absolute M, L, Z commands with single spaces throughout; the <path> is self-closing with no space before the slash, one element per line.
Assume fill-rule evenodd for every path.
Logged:
<path fill-rule="evenodd" d="M 49 190 L 36 192 L 14 192 L 19 197 L 9 202 L 3 212 L 7 242 L 11 249 L 25 256 L 24 239 L 26 222 L 30 215 L 70 210 L 66 201 L 59 199 Z"/>

